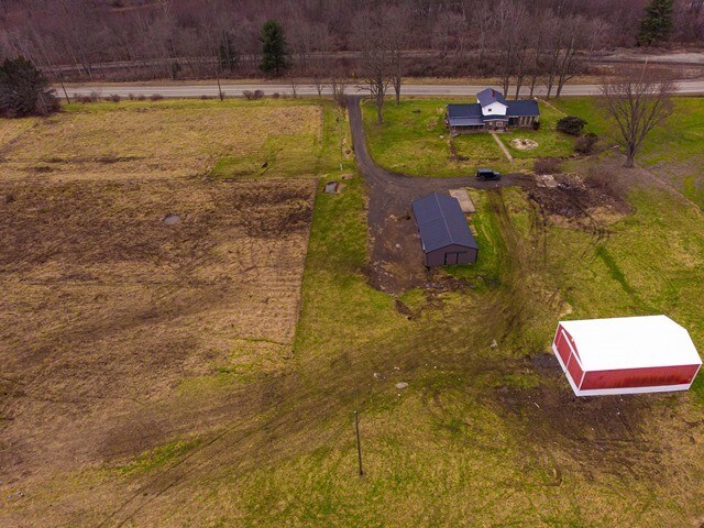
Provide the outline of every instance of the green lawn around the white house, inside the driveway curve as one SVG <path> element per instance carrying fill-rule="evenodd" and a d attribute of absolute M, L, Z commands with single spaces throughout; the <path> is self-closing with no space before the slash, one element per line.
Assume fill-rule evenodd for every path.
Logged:
<path fill-rule="evenodd" d="M 541 129 L 522 129 L 498 134 L 516 158 L 509 163 L 490 134 L 466 134 L 450 139 L 444 127 L 444 106 L 449 99 L 406 98 L 399 106 L 388 101 L 384 123 L 376 124 L 371 101 L 363 105 L 370 153 L 380 165 L 417 176 L 466 176 L 477 167 L 490 166 L 502 172 L 530 168 L 536 157 L 564 157 L 572 154 L 574 139 L 556 131 L 561 114 L 540 105 Z M 457 100 L 466 102 L 468 99 Z M 454 102 L 454 101 L 453 101 Z M 529 138 L 538 142 L 532 151 L 519 151 L 509 142 Z M 454 155 L 453 155 L 454 151 Z"/>

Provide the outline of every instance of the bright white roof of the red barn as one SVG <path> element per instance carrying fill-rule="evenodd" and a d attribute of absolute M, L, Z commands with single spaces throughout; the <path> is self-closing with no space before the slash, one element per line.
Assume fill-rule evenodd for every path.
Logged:
<path fill-rule="evenodd" d="M 585 371 L 701 365 L 686 329 L 667 316 L 560 321 Z"/>

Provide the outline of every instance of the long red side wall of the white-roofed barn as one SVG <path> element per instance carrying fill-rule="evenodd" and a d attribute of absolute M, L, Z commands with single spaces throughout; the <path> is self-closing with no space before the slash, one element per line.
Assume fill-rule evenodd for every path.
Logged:
<path fill-rule="evenodd" d="M 582 391 L 624 387 L 657 387 L 692 383 L 700 365 L 592 371 L 584 375 Z"/>

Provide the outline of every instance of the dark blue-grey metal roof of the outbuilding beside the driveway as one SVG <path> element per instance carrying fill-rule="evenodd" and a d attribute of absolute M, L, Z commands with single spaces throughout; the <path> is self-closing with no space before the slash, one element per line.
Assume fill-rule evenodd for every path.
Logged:
<path fill-rule="evenodd" d="M 433 193 L 414 201 L 413 209 L 426 253 L 451 244 L 479 249 L 457 198 Z"/>

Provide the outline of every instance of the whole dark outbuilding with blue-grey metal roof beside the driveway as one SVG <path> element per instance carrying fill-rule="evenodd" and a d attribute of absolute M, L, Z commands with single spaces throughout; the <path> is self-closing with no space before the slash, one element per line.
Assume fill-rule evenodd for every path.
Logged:
<path fill-rule="evenodd" d="M 414 201 L 426 266 L 474 264 L 479 245 L 457 198 L 433 193 Z"/>

